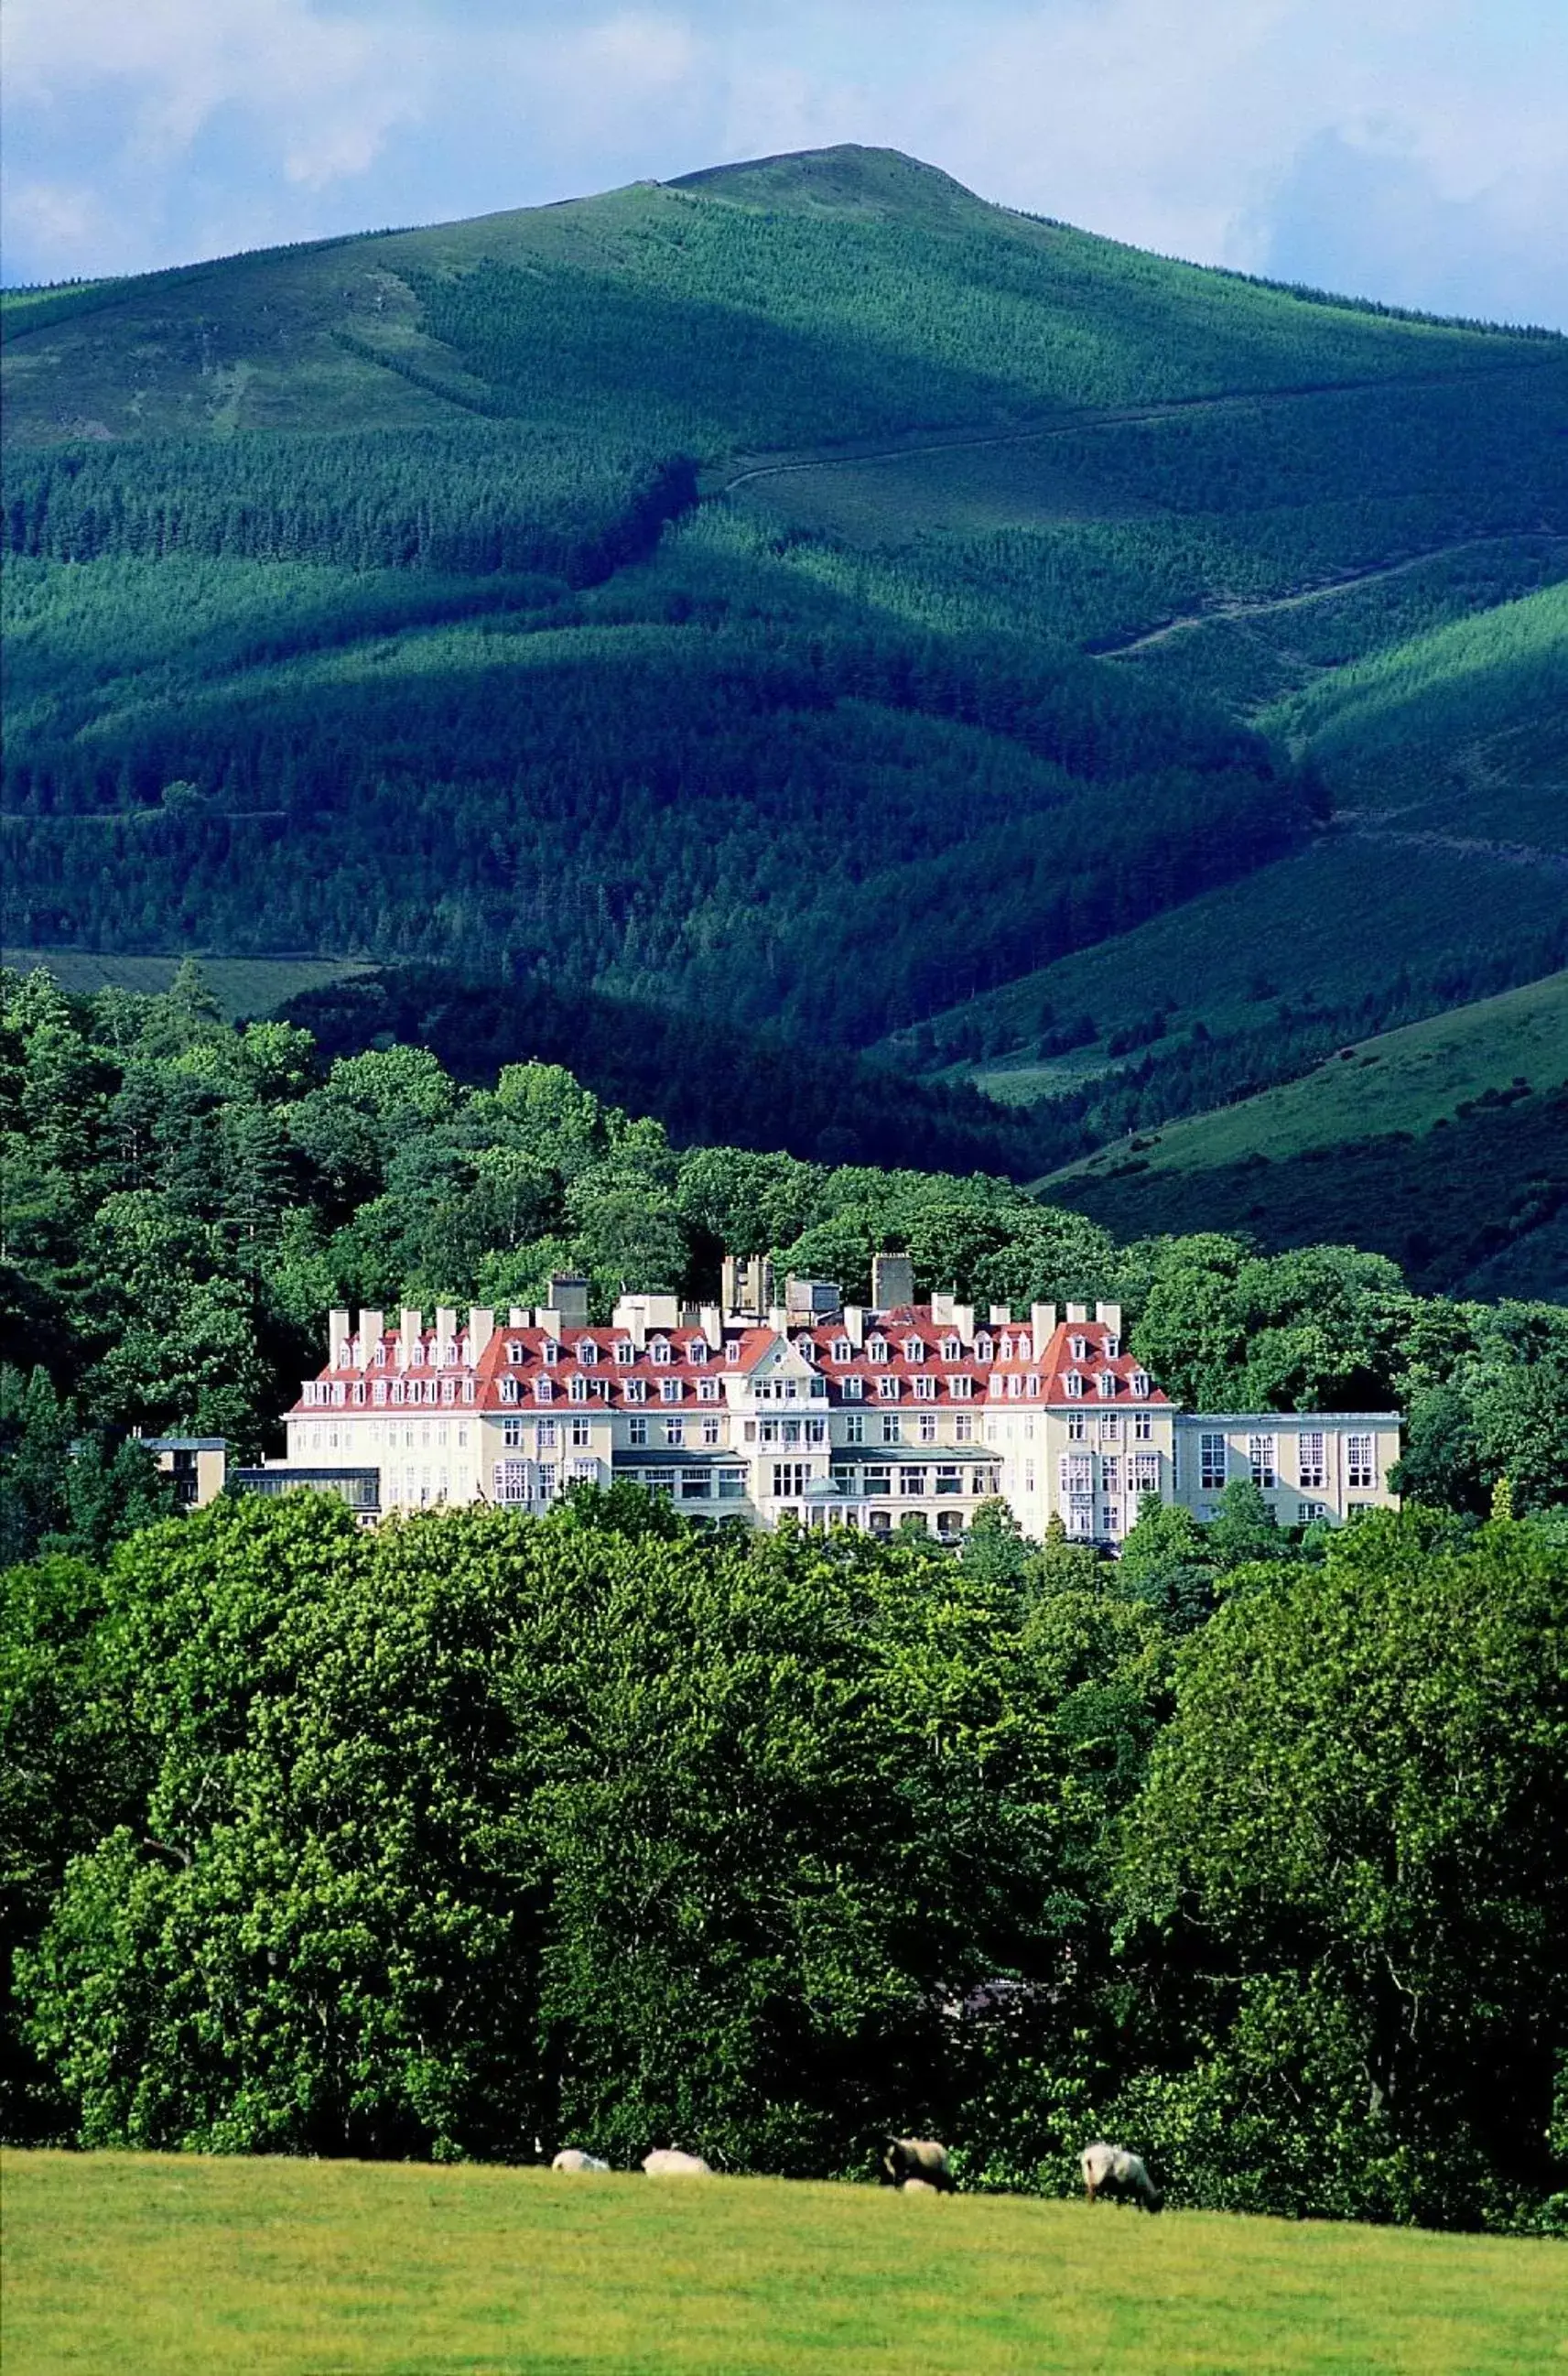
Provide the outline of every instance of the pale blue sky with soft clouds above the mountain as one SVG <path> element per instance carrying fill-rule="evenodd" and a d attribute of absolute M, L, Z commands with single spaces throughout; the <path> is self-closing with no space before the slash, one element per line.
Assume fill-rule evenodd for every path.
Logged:
<path fill-rule="evenodd" d="M 1164 254 L 1568 328 L 1568 0 L 7 0 L 7 285 L 839 140 Z"/>

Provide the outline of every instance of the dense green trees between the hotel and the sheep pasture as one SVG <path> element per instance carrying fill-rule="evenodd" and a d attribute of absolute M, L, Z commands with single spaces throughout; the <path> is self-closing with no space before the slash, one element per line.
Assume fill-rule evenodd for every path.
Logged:
<path fill-rule="evenodd" d="M 1043 2193 L 1109 2134 L 1181 2205 L 1561 2236 L 1566 1618 L 1506 1514 L 1283 1559 L 1155 1506 L 1100 1563 L 302 1497 L 14 1568 L 5 2127 L 915 2131 Z"/>

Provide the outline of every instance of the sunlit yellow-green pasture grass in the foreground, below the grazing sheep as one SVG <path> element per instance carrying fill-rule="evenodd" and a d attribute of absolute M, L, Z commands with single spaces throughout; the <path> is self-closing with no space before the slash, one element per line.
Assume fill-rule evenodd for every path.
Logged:
<path fill-rule="evenodd" d="M 12 2153 L 7 2376 L 1409 2371 L 1568 2357 L 1549 2243 L 770 2179 Z"/>

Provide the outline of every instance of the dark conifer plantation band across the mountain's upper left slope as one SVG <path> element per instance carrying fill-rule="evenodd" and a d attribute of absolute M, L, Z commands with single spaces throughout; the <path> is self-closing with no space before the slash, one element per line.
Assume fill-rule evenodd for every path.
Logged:
<path fill-rule="evenodd" d="M 646 554 L 691 501 L 679 454 L 523 425 L 57 444 L 7 459 L 5 549 L 546 570 L 587 584 Z"/>

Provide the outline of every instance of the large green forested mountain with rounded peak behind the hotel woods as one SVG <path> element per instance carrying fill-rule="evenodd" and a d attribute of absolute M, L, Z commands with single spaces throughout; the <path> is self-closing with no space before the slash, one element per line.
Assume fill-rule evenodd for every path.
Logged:
<path fill-rule="evenodd" d="M 1000 1072 L 1036 1169 L 1568 960 L 1558 337 L 881 150 L 2 330 L 7 943 Z"/>

